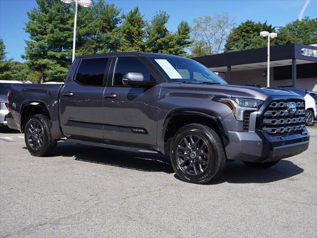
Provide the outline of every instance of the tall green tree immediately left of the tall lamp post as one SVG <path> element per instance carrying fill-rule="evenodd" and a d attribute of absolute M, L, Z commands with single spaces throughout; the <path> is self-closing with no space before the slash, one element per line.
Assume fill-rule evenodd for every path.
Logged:
<path fill-rule="evenodd" d="M 71 63 L 73 11 L 60 0 L 37 0 L 38 7 L 27 12 L 29 21 L 23 59 L 38 72 L 42 83 L 62 81 Z"/>

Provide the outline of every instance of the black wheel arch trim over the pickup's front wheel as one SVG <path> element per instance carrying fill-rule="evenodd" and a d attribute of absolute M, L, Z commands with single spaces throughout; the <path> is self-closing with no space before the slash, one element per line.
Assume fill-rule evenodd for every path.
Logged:
<path fill-rule="evenodd" d="M 204 110 L 204 109 L 196 109 L 196 108 L 179 108 L 179 109 L 173 109 L 170 111 L 167 116 L 165 117 L 163 128 L 162 128 L 162 134 L 161 139 L 164 140 L 166 130 L 168 127 L 169 121 L 178 115 L 191 115 L 191 116 L 202 116 L 211 119 L 215 124 L 218 126 L 219 131 L 221 133 L 222 141 L 224 146 L 227 146 L 229 144 L 229 134 L 228 130 L 226 129 L 226 126 L 220 117 L 220 115 L 214 111 L 210 110 Z"/>

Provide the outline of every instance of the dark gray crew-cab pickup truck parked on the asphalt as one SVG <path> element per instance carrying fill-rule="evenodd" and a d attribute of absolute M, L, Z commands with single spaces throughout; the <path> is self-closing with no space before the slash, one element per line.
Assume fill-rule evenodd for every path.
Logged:
<path fill-rule="evenodd" d="M 29 152 L 59 139 L 169 154 L 184 181 L 218 178 L 226 161 L 267 168 L 308 148 L 303 97 L 228 85 L 200 63 L 150 53 L 76 58 L 62 85 L 13 85 L 7 123 Z"/>

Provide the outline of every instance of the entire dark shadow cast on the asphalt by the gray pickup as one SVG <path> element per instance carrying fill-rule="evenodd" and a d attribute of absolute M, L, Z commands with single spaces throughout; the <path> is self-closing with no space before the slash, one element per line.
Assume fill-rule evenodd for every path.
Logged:
<path fill-rule="evenodd" d="M 24 147 L 26 149 L 26 147 Z M 58 142 L 50 157 L 74 157 L 76 161 L 103 164 L 144 172 L 164 172 L 173 174 L 168 156 L 150 153 L 136 153 L 101 147 Z M 292 179 L 304 170 L 291 161 L 281 160 L 267 169 L 249 168 L 242 162 L 228 162 L 224 173 L 219 179 L 206 185 L 229 183 L 268 183 L 282 179 Z M 179 179 L 175 174 L 174 177 Z"/>

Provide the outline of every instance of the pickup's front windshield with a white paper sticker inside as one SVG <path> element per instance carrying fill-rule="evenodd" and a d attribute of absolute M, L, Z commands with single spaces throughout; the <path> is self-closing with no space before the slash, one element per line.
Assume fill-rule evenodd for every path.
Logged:
<path fill-rule="evenodd" d="M 227 84 L 214 72 L 195 60 L 178 57 L 150 57 L 168 82 Z"/>

